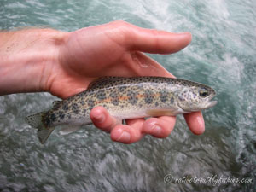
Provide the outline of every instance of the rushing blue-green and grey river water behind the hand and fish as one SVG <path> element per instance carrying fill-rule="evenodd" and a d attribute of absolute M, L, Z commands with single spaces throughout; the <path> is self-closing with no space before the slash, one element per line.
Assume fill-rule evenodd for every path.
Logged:
<path fill-rule="evenodd" d="M 255 10 L 254 0 L 0 0 L 2 30 L 73 31 L 125 20 L 189 31 L 188 48 L 150 56 L 178 78 L 218 92 L 218 105 L 204 112 L 203 135 L 193 135 L 180 116 L 166 139 L 131 145 L 113 143 L 93 126 L 67 136 L 55 131 L 41 145 L 24 117 L 55 97 L 0 96 L 0 191 L 255 191 Z"/>

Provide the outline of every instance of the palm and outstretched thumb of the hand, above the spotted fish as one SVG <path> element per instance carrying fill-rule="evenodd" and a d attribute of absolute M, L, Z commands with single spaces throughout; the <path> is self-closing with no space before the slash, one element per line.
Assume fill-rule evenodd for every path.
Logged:
<path fill-rule="evenodd" d="M 66 33 L 59 65 L 46 84 L 55 96 L 66 98 L 83 90 L 102 76 L 174 77 L 142 52 L 170 54 L 186 47 L 190 33 L 143 29 L 124 21 L 90 26 Z"/>

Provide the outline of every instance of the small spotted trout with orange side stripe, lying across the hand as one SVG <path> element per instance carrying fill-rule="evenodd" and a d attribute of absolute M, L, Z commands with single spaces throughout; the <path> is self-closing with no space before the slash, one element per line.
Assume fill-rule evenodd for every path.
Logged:
<path fill-rule="evenodd" d="M 116 119 L 176 116 L 215 106 L 215 90 L 206 84 L 166 77 L 103 77 L 83 92 L 55 101 L 49 111 L 32 114 L 26 122 L 38 130 L 44 144 L 57 126 L 76 131 L 92 124 L 90 110 L 102 106 Z"/>

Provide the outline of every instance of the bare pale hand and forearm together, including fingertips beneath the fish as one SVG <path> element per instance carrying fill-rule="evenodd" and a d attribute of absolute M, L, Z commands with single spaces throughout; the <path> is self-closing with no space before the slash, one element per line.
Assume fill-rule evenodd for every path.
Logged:
<path fill-rule="evenodd" d="M 63 99 L 86 90 L 102 76 L 174 77 L 159 63 L 144 55 L 172 54 L 191 41 L 189 32 L 171 33 L 113 21 L 75 32 L 24 29 L 0 33 L 0 95 L 48 91 Z M 102 107 L 90 118 L 113 141 L 135 143 L 145 134 L 167 137 L 176 117 L 126 120 L 121 125 Z M 184 115 L 190 131 L 205 131 L 201 112 Z"/>

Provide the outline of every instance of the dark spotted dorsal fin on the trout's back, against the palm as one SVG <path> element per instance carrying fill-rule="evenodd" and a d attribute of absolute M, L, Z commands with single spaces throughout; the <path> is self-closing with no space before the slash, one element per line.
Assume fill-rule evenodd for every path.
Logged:
<path fill-rule="evenodd" d="M 112 87 L 113 85 L 123 84 L 125 78 L 123 77 L 102 77 L 93 80 L 87 87 L 87 90 L 95 90 L 101 88 L 108 88 Z"/>

